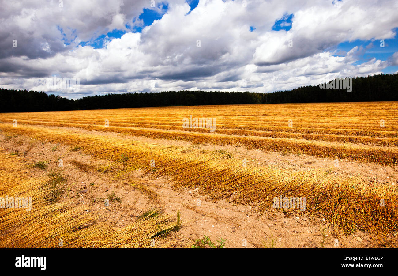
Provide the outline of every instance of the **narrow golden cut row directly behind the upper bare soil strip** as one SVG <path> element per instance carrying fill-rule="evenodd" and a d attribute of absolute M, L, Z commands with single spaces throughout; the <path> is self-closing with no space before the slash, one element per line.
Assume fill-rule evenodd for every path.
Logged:
<path fill-rule="evenodd" d="M 42 123 L 43 125 L 49 125 Z M 42 125 L 40 124 L 40 125 Z M 39 124 L 38 124 L 39 125 Z M 70 126 L 70 124 L 50 124 L 53 126 Z M 75 125 L 76 127 L 76 125 Z M 240 145 L 248 149 L 260 149 L 262 151 L 282 151 L 285 153 L 296 153 L 298 151 L 306 155 L 317 157 L 330 157 L 334 159 L 350 159 L 358 162 L 373 162 L 379 165 L 398 165 L 397 147 L 377 147 L 373 145 L 356 145 L 348 143 L 331 143 L 326 141 L 308 141 L 295 138 L 274 138 L 274 137 L 239 137 L 233 135 L 220 135 L 218 133 L 198 133 L 189 131 L 166 131 L 132 129 L 127 127 L 103 127 L 98 125 L 79 125 L 79 128 L 94 131 L 113 133 L 125 133 L 132 136 L 143 136 L 153 139 L 182 140 L 195 144 L 213 143 L 215 145 Z M 366 138 L 364 138 L 366 139 Z M 369 139 L 371 139 L 369 137 Z M 344 139 L 341 139 L 342 141 Z M 380 139 L 379 139 L 380 140 Z M 396 139 L 381 141 L 382 145 L 394 145 Z M 372 144 L 367 141 L 367 144 Z"/>

